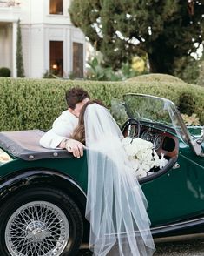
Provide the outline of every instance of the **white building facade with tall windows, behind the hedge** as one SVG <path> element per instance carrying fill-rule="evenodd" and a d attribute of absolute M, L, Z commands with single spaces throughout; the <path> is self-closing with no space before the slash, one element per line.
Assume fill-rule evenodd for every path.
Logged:
<path fill-rule="evenodd" d="M 71 0 L 0 0 L 0 68 L 16 77 L 17 20 L 21 22 L 25 77 L 46 72 L 83 77 L 85 37 L 71 24 Z"/>

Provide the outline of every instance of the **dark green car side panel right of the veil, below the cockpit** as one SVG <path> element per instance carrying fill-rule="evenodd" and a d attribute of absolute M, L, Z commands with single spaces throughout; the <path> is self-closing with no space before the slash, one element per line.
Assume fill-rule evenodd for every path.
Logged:
<path fill-rule="evenodd" d="M 204 158 L 186 145 L 173 168 L 141 187 L 152 226 L 194 218 L 204 213 Z"/>

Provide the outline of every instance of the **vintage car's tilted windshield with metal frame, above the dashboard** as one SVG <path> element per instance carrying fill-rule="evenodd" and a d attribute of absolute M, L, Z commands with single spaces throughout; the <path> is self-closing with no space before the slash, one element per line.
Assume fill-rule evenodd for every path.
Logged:
<path fill-rule="evenodd" d="M 119 125 L 128 118 L 148 121 L 174 128 L 178 137 L 185 143 L 190 143 L 190 134 L 184 124 L 180 112 L 174 103 L 165 98 L 158 98 L 143 94 L 127 94 L 123 97 L 123 104 L 113 104 L 112 113 Z"/>

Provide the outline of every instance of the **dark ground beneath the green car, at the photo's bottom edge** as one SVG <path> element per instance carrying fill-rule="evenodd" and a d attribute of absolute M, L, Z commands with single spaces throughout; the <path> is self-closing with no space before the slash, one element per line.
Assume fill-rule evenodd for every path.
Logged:
<path fill-rule="evenodd" d="M 154 256 L 204 256 L 204 240 L 156 243 Z M 81 250 L 77 256 L 90 256 L 89 250 Z"/>

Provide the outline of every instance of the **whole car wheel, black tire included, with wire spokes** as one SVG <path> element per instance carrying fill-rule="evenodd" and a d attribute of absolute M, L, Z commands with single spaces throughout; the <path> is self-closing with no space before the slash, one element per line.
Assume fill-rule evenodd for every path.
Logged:
<path fill-rule="evenodd" d="M 0 255 L 76 255 L 82 232 L 81 212 L 58 190 L 23 190 L 0 208 Z"/>

